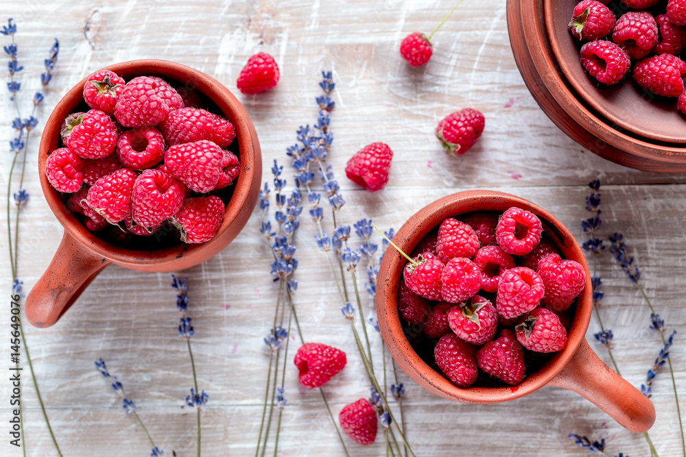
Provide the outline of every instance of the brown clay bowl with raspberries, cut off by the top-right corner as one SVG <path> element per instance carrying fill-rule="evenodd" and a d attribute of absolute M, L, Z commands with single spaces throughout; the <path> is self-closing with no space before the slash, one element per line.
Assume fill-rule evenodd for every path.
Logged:
<path fill-rule="evenodd" d="M 667 1 L 508 0 L 508 29 L 525 83 L 567 135 L 613 162 L 678 173 L 686 29 L 666 11 Z"/>

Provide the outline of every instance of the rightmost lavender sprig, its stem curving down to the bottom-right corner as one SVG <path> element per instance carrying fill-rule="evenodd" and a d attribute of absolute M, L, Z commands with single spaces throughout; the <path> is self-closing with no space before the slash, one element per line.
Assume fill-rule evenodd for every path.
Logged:
<path fill-rule="evenodd" d="M 615 232 L 615 234 L 609 237 L 609 240 L 612 243 L 610 251 L 612 254 L 614 254 L 615 260 L 617 260 L 619 266 L 622 267 L 622 270 L 624 270 L 624 273 L 626 273 L 629 280 L 631 280 L 639 292 L 641 292 L 643 299 L 645 299 L 646 304 L 648 304 L 648 308 L 650 308 L 650 328 L 658 331 L 660 338 L 662 339 L 662 344 L 668 349 L 669 346 L 667 346 L 667 339 L 665 338 L 665 323 L 659 318 L 657 312 L 655 312 L 655 308 L 653 308 L 646 291 L 643 289 L 643 284 L 641 284 L 641 271 L 634 263 L 634 258 L 627 255 L 628 249 L 626 247 L 626 243 L 624 243 L 624 235 Z M 670 345 L 673 336 L 674 334 L 670 336 Z M 674 402 L 676 403 L 676 415 L 679 419 L 679 431 L 681 432 L 681 450 L 683 452 L 683 457 L 686 457 L 686 436 L 684 436 L 683 421 L 681 420 L 681 408 L 679 406 L 679 396 L 676 391 L 674 368 L 672 367 L 672 359 L 669 355 L 667 355 L 667 364 L 670 367 L 670 375 L 672 375 L 672 388 L 674 390 Z"/>

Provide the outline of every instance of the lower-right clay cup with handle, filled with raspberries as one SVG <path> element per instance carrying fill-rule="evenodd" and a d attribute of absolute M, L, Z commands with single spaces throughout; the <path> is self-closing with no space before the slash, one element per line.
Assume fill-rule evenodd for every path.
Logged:
<path fill-rule="evenodd" d="M 632 432 L 654 406 L 586 342 L 591 280 L 551 214 L 489 190 L 449 195 L 412 216 L 383 256 L 376 307 L 400 367 L 428 391 L 506 402 L 545 385 L 575 391 Z"/>

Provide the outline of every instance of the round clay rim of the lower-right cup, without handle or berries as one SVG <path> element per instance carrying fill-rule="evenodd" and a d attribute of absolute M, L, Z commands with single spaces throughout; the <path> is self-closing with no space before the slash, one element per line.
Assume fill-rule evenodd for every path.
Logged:
<path fill-rule="evenodd" d="M 445 375 L 429 367 L 407 341 L 398 313 L 399 280 L 402 278 L 407 260 L 392 247 L 383 255 L 375 300 L 383 341 L 386 341 L 393 358 L 410 378 L 426 388 L 427 391 L 441 397 L 464 403 L 498 403 L 528 395 L 550 382 L 567 365 L 567 362 L 571 360 L 579 345 L 586 338 L 593 304 L 591 274 L 583 251 L 571 232 L 560 221 L 528 200 L 495 190 L 469 190 L 448 195 L 429 203 L 410 219 L 407 219 L 407 222 L 394 236 L 393 242 L 403 251 L 409 253 L 424 236 L 438 227 L 440 221 L 447 217 L 458 217 L 460 214 L 475 211 L 504 212 L 512 206 L 533 212 L 541 218 L 544 230 L 546 230 L 550 240 L 560 249 L 563 257 L 580 262 L 586 272 L 584 291 L 573 304 L 575 314 L 568 332 L 567 346 L 554 354 L 543 367 L 528 375 L 517 386 L 458 387 Z"/>

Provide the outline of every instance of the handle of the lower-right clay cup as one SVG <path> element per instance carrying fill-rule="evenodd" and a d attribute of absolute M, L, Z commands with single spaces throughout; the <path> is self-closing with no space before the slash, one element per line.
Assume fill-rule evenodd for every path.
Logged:
<path fill-rule="evenodd" d="M 631 432 L 646 432 L 655 421 L 650 399 L 600 360 L 585 338 L 549 384 L 578 393 Z"/>

